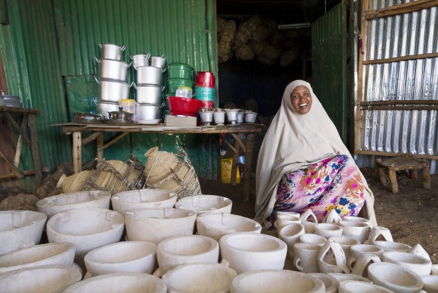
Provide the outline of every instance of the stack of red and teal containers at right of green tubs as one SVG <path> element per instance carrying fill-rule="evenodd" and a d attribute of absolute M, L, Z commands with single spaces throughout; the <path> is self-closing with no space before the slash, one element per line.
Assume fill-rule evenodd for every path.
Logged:
<path fill-rule="evenodd" d="M 215 84 L 216 79 L 213 72 L 197 72 L 193 95 L 195 96 L 195 99 L 201 101 L 200 108 L 215 108 Z"/>

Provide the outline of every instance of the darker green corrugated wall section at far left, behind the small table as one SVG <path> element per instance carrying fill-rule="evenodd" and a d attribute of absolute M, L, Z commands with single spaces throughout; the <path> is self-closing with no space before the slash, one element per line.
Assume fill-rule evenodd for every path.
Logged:
<path fill-rule="evenodd" d="M 53 171 L 60 163 L 71 161 L 71 146 L 59 128 L 46 127 L 66 121 L 52 2 L 8 0 L 7 8 L 9 22 L 0 25 L 0 50 L 9 94 L 19 95 L 25 108 L 42 110 L 37 115 L 41 165 Z M 32 154 L 23 144 L 20 170 L 30 169 Z M 34 189 L 32 176 L 21 183 Z"/>

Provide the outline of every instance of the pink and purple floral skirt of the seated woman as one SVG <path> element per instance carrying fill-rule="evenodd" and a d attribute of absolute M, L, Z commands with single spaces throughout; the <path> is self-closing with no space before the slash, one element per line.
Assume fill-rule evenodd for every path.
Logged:
<path fill-rule="evenodd" d="M 329 157 L 302 170 L 281 177 L 274 212 L 302 214 L 309 208 L 319 222 L 330 210 L 357 216 L 365 203 L 364 184 L 355 162 L 346 155 Z"/>

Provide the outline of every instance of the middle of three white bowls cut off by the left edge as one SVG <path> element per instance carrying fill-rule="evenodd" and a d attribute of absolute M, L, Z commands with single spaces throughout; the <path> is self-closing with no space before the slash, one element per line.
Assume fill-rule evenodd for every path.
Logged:
<path fill-rule="evenodd" d="M 32 245 L 0 256 L 0 274 L 39 265 L 73 265 L 73 243 L 59 242 Z"/>

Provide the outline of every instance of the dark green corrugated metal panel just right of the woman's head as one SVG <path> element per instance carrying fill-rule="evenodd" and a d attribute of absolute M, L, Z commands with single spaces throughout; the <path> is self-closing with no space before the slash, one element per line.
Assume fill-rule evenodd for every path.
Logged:
<path fill-rule="evenodd" d="M 347 139 L 347 3 L 341 1 L 312 23 L 312 81 L 315 94 Z"/>

